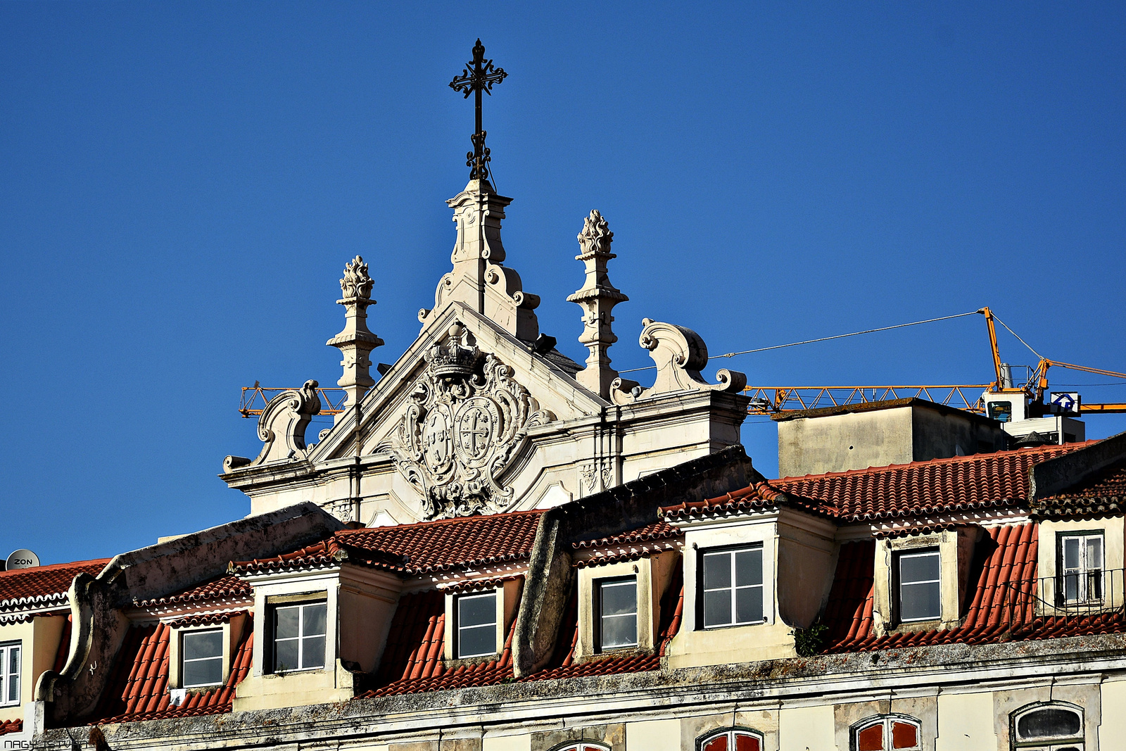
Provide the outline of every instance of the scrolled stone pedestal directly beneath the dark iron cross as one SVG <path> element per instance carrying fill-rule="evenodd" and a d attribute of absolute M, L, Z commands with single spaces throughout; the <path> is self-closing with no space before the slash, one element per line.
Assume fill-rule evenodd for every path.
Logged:
<path fill-rule="evenodd" d="M 524 341 L 535 341 L 539 322 L 533 312 L 539 297 L 524 292 L 520 275 L 501 265 L 504 245 L 500 223 L 511 198 L 498 195 L 489 180 L 470 180 L 446 202 L 454 209 L 457 239 L 449 260 L 454 270 L 438 281 L 434 307 L 419 311 L 425 329 L 452 301 L 465 303 Z"/>

